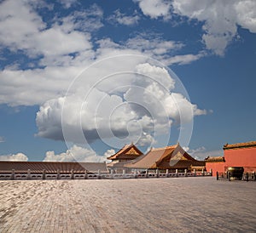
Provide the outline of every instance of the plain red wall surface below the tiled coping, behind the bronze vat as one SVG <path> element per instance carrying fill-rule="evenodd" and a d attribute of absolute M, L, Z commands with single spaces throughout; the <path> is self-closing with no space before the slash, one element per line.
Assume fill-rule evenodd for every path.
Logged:
<path fill-rule="evenodd" d="M 216 172 L 224 173 L 228 167 L 243 167 L 244 172 L 256 172 L 256 147 L 224 150 L 225 162 L 207 162 L 207 172 L 212 169 L 212 175 Z"/>

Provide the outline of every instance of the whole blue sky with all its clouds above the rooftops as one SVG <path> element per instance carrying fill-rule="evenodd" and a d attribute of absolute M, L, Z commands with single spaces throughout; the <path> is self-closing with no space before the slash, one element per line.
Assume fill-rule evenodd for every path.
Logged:
<path fill-rule="evenodd" d="M 255 140 L 256 3 L 0 3 L 0 159 Z"/>

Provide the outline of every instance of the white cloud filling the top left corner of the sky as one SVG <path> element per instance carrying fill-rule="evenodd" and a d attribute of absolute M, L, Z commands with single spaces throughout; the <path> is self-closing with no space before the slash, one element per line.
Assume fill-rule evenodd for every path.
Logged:
<path fill-rule="evenodd" d="M 0 43 L 11 51 L 22 50 L 29 57 L 59 57 L 90 50 L 90 34 L 76 30 L 70 18 L 47 27 L 26 1 L 4 1 L 0 6 Z"/>

